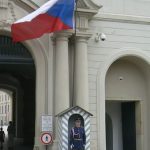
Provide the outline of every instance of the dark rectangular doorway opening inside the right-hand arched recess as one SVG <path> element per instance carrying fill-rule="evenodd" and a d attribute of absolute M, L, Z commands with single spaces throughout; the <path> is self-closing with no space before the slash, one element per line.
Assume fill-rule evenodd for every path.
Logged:
<path fill-rule="evenodd" d="M 106 101 L 107 150 L 136 150 L 135 104 Z"/>

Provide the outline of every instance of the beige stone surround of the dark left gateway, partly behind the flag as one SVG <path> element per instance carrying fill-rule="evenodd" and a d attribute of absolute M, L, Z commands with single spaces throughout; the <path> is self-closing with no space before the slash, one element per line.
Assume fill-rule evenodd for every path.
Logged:
<path fill-rule="evenodd" d="M 10 28 L 4 28 L 1 35 L 11 37 Z M 36 69 L 36 91 L 35 91 L 35 147 L 41 145 L 40 121 L 41 114 L 48 112 L 48 55 L 39 39 L 28 40 L 22 44 L 31 53 Z"/>

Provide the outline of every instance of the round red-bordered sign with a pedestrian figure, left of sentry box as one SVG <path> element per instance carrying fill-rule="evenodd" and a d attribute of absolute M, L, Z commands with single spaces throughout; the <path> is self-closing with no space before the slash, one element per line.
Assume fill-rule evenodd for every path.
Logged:
<path fill-rule="evenodd" d="M 52 135 L 50 133 L 43 133 L 41 135 L 41 142 L 45 145 L 51 144 L 53 141 Z"/>

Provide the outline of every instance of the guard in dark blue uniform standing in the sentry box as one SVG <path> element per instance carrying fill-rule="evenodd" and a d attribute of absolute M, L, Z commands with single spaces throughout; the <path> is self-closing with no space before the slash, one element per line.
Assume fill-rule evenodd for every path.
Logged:
<path fill-rule="evenodd" d="M 71 150 L 85 150 L 85 145 L 85 130 L 81 127 L 81 119 L 76 118 L 75 126 L 70 131 L 70 148 Z"/>

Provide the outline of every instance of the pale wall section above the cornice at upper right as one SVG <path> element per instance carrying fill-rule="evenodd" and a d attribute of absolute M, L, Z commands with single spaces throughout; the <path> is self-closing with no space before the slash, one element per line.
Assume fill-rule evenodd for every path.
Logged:
<path fill-rule="evenodd" d="M 150 17 L 150 0 L 99 0 L 103 5 L 100 13 Z"/>

